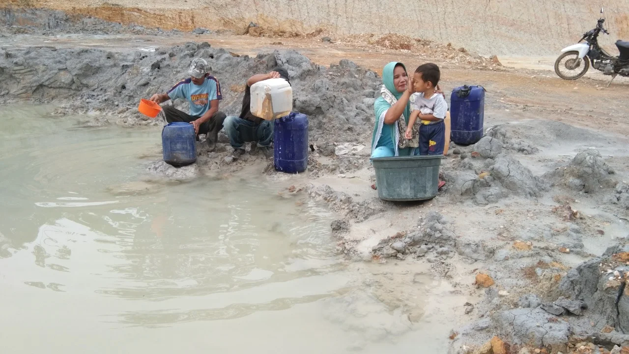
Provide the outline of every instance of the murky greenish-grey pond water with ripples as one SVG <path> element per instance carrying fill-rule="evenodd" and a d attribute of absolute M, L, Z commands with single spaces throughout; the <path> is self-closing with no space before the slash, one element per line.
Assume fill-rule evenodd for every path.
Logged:
<path fill-rule="evenodd" d="M 333 215 L 286 186 L 147 180 L 160 128 L 3 111 L 4 353 L 444 350 L 453 324 L 429 323 L 429 299 L 448 285 L 419 277 L 411 324 L 335 252 Z"/>

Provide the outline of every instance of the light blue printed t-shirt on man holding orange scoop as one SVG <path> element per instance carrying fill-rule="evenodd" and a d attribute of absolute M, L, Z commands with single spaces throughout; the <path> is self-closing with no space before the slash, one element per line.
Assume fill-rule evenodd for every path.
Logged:
<path fill-rule="evenodd" d="M 170 100 L 181 98 L 190 103 L 190 115 L 201 117 L 209 110 L 209 102 L 212 100 L 222 100 L 221 84 L 216 77 L 206 74 L 205 81 L 201 85 L 192 83 L 189 77 L 172 86 L 168 91 Z"/>

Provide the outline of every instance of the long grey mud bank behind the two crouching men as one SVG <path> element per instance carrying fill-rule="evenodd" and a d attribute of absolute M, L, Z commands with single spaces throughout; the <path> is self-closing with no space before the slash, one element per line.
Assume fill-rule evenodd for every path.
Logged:
<path fill-rule="evenodd" d="M 62 103 L 59 113 L 100 112 L 123 125 L 146 124 L 147 118 L 136 109 L 140 98 L 164 93 L 185 79 L 196 57 L 206 59 L 211 75 L 220 81 L 220 110 L 227 115 L 240 113 L 248 77 L 282 66 L 291 77 L 294 110 L 309 116 L 311 142 L 324 146 L 368 139 L 374 94 L 381 84 L 377 75 L 348 60 L 326 69 L 294 50 L 248 57 L 214 49 L 206 42 L 124 54 L 97 49 L 0 49 L 0 100 L 54 100 Z M 187 103 L 174 105 L 187 109 Z"/>

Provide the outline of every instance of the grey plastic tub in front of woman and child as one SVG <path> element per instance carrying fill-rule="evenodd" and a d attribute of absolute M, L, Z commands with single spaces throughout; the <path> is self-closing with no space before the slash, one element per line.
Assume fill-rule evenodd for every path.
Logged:
<path fill-rule="evenodd" d="M 434 198 L 442 158 L 443 155 L 423 155 L 371 159 L 376 169 L 378 197 L 399 201 Z"/>

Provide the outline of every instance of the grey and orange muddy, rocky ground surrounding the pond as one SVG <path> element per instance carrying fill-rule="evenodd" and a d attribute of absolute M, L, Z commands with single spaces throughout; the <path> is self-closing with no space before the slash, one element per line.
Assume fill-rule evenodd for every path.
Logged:
<path fill-rule="evenodd" d="M 52 28 L 12 25 L 2 33 L 45 36 L 59 26 L 69 32 L 166 33 L 93 19 L 62 25 L 63 16 L 53 14 L 46 22 Z M 248 28 L 247 36 L 256 31 Z M 245 55 L 203 41 L 124 51 L 14 45 L 0 49 L 0 103 L 53 103 L 57 115 L 82 113 L 89 126 L 160 125 L 136 111 L 138 101 L 182 79 L 194 57 L 208 60 L 220 79 L 221 110 L 228 115 L 238 112 L 248 76 L 284 66 L 294 109 L 310 121 L 306 173 L 276 173 L 255 149 L 236 159 L 223 134 L 215 152 L 208 152 L 202 137 L 196 164 L 177 169 L 158 160 L 147 170 L 168 180 L 255 171 L 289 181 L 282 197 L 307 193 L 329 205 L 338 214 L 331 224 L 338 251 L 359 268 L 387 269 L 388 280 L 379 281 L 409 296 L 392 300 L 381 290 L 381 297 L 410 323 L 422 321 L 421 305 L 411 296 L 415 285 L 392 274 L 426 268 L 451 284 L 448 293 L 457 301 L 468 299 L 452 305 L 456 319 L 443 353 L 629 352 L 629 128 L 620 101 L 626 85 L 598 89 L 599 81 L 584 79 L 573 89 L 574 83 L 547 78 L 548 72 L 504 68 L 451 45 L 382 38 L 361 42 L 363 50 L 374 51 L 357 60 L 364 65 L 340 59 L 350 55 L 335 47 L 342 54 L 328 55 L 328 62 L 340 59 L 329 67 L 295 50 Z M 307 43 L 329 50 L 335 40 L 328 39 Z M 488 88 L 486 134 L 473 146 L 451 144 L 441 168 L 447 185 L 436 198 L 384 202 L 370 188 L 372 106 L 381 85 L 374 63 L 381 67 L 386 55 L 414 50 L 434 56 L 448 72 L 447 93 L 469 81 Z"/>

